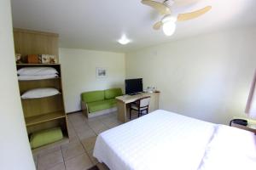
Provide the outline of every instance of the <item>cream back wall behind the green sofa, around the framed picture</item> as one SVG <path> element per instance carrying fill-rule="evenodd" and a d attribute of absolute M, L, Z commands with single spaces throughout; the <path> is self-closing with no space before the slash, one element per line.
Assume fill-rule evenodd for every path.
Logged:
<path fill-rule="evenodd" d="M 66 112 L 80 111 L 80 94 L 107 88 L 124 88 L 125 54 L 60 48 Z M 96 67 L 107 68 L 107 78 L 96 78 Z"/>

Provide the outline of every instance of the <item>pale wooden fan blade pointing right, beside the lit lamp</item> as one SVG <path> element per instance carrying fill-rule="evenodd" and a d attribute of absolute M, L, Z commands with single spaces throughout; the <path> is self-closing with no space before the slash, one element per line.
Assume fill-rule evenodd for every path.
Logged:
<path fill-rule="evenodd" d="M 196 10 L 196 11 L 191 12 L 191 13 L 178 14 L 177 15 L 177 21 L 195 19 L 195 18 L 201 16 L 202 14 L 206 14 L 211 8 L 212 8 L 212 6 L 207 6 L 205 8 L 201 8 L 201 9 Z"/>

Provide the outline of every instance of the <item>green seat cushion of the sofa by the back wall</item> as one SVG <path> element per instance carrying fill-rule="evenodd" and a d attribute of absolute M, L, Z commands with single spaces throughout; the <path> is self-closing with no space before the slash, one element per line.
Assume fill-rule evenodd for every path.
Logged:
<path fill-rule="evenodd" d="M 106 109 L 110 109 L 116 106 L 115 99 L 105 99 L 101 101 L 90 102 L 87 104 L 89 112 L 102 111 Z"/>

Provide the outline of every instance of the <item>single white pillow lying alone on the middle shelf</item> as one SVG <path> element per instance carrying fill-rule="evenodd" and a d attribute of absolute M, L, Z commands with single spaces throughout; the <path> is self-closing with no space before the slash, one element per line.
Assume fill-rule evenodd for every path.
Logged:
<path fill-rule="evenodd" d="M 55 88 L 34 88 L 22 94 L 21 99 L 44 98 L 55 94 L 60 94 L 60 92 Z"/>

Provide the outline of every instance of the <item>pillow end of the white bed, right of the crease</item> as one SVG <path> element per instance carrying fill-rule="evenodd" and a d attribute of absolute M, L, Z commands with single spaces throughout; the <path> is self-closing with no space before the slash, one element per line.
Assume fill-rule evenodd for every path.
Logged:
<path fill-rule="evenodd" d="M 200 170 L 256 169 L 256 138 L 251 132 L 219 125 L 207 145 Z"/>

